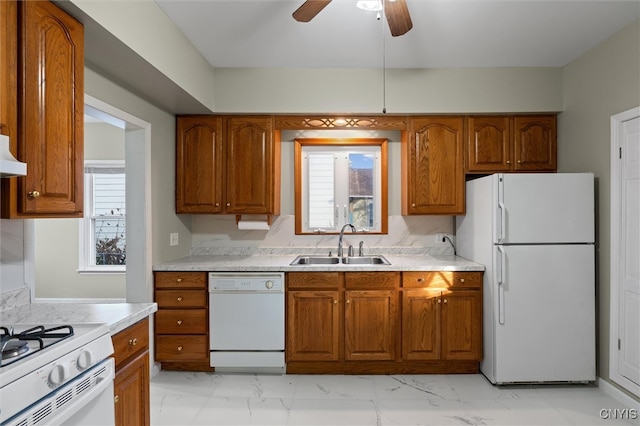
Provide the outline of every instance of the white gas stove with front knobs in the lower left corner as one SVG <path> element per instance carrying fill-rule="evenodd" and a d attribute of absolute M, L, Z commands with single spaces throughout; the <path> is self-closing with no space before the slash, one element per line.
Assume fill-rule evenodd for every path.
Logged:
<path fill-rule="evenodd" d="M 2 324 L 0 344 L 0 425 L 81 424 L 74 423 L 76 413 L 107 388 L 111 417 L 106 409 L 105 424 L 113 423 L 107 325 Z"/>

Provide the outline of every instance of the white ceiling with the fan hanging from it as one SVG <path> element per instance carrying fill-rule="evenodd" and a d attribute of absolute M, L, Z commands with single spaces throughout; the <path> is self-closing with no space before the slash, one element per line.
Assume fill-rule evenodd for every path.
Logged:
<path fill-rule="evenodd" d="M 640 17 L 640 0 L 407 0 L 413 29 L 391 37 L 355 0 L 309 23 L 304 0 L 155 1 L 214 67 L 562 67 Z"/>

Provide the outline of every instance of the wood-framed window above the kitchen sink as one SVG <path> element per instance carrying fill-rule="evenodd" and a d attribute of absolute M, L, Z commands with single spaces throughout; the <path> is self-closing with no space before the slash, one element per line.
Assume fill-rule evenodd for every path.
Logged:
<path fill-rule="evenodd" d="M 387 232 L 387 139 L 295 140 L 296 234 Z"/>

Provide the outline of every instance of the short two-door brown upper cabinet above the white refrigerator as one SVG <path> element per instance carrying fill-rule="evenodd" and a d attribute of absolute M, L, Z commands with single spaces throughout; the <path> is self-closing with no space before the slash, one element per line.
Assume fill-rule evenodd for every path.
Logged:
<path fill-rule="evenodd" d="M 555 115 L 470 116 L 468 173 L 556 171 Z"/>

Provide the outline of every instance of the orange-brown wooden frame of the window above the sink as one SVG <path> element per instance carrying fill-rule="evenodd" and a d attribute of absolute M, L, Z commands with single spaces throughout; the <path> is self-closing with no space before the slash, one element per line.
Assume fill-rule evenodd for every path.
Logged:
<path fill-rule="evenodd" d="M 294 139 L 294 199 L 295 199 L 295 233 L 296 235 L 314 235 L 314 232 L 303 231 L 302 218 L 302 148 L 305 146 L 378 146 L 380 147 L 380 231 L 368 232 L 370 234 L 389 233 L 389 173 L 387 138 L 296 138 Z M 339 232 L 325 232 L 326 234 L 338 234 Z"/>

